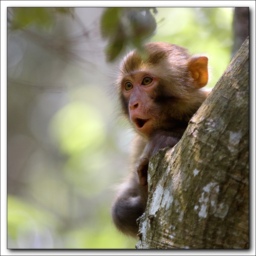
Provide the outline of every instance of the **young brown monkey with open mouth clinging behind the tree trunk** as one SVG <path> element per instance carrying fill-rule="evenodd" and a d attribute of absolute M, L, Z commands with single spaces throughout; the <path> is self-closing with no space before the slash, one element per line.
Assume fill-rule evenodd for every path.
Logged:
<path fill-rule="evenodd" d="M 211 90 L 208 58 L 193 56 L 184 47 L 147 43 L 144 54 L 130 52 L 121 62 L 117 90 L 124 116 L 136 131 L 132 170 L 112 204 L 112 220 L 126 235 L 138 234 L 136 220 L 148 199 L 150 157 L 164 147 L 174 147 L 194 113 Z"/>

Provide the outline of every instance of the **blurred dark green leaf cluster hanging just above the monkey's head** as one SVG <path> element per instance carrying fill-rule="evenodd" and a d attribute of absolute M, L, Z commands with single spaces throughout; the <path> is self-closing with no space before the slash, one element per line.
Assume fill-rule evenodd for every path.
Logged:
<path fill-rule="evenodd" d="M 101 34 L 108 39 L 107 60 L 114 61 L 127 45 L 142 50 L 143 42 L 152 37 L 156 21 L 150 9 L 153 7 L 108 7 L 101 19 Z"/>

